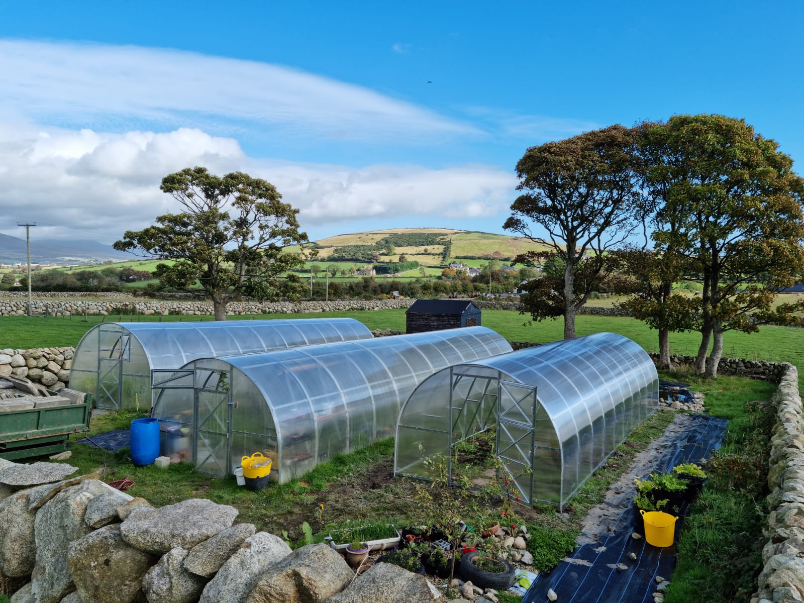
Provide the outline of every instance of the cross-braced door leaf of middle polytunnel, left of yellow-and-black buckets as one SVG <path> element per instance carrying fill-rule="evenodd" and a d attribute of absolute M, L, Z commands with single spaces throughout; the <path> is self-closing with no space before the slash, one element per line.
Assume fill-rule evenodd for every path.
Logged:
<path fill-rule="evenodd" d="M 225 478 L 232 466 L 229 426 L 232 425 L 232 392 L 228 371 L 195 373 L 195 429 L 193 465 L 199 474 Z"/>

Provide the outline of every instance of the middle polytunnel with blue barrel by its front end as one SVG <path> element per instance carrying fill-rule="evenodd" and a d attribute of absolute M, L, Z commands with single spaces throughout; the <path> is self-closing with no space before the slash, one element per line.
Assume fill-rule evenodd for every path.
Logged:
<path fill-rule="evenodd" d="M 163 380 L 152 415 L 162 454 L 224 477 L 261 452 L 287 482 L 391 437 L 416 385 L 451 364 L 511 351 L 482 326 L 203 358 Z"/>

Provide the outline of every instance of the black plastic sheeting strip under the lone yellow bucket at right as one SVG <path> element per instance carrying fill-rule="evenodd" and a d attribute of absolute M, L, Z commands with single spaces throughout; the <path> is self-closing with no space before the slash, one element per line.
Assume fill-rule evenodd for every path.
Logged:
<path fill-rule="evenodd" d="M 697 462 L 720 448 L 728 426 L 728 420 L 706 415 L 691 416 L 689 429 L 681 432 L 675 442 L 659 458 L 653 471 L 671 470 L 683 462 Z M 647 477 L 643 476 L 643 477 Z M 577 548 L 552 571 L 539 574 L 523 597 L 523 603 L 547 601 L 548 589 L 553 589 L 560 603 L 654 603 L 656 576 L 671 580 L 675 567 L 675 544 L 658 548 L 647 544 L 645 539 L 633 539 L 634 508 L 631 506 L 633 491 L 621 494 L 615 504 L 622 507 L 617 523 L 611 531 L 603 528 L 597 543 Z M 683 527 L 683 515 L 687 503 L 681 507 L 676 522 L 678 539 Z M 637 560 L 630 560 L 630 553 Z M 574 562 L 574 563 L 573 563 Z M 627 568 L 617 568 L 625 564 Z"/>

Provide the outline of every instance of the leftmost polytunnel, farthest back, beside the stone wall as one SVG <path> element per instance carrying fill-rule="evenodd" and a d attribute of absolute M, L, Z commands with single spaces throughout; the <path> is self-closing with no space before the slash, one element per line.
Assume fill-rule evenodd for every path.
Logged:
<path fill-rule="evenodd" d="M 353 318 L 220 322 L 105 322 L 81 338 L 70 387 L 98 408 L 151 408 L 151 371 L 196 358 L 248 354 L 314 343 L 370 339 Z"/>

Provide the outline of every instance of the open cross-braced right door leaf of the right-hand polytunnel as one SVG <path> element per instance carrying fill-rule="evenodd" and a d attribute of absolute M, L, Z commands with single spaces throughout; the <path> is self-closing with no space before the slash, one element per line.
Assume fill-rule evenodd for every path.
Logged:
<path fill-rule="evenodd" d="M 497 456 L 519 490 L 519 498 L 530 504 L 533 496 L 533 449 L 536 422 L 536 388 L 499 382 L 497 396 Z"/>

